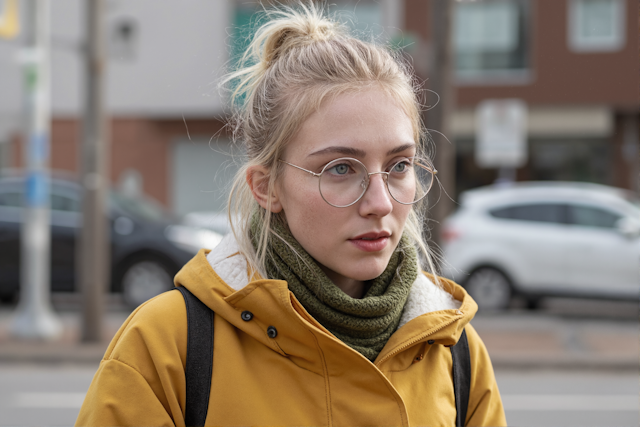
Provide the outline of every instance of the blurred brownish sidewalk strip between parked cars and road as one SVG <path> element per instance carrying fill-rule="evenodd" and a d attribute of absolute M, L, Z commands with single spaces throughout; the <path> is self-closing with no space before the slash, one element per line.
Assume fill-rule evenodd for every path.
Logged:
<path fill-rule="evenodd" d="M 0 309 L 0 363 L 98 364 L 111 337 L 128 316 L 110 309 L 104 340 L 80 342 L 81 314 L 58 310 L 64 333 L 56 342 L 28 342 L 8 332 L 12 310 Z M 479 315 L 472 325 L 485 342 L 496 369 L 638 369 L 639 330 L 636 319 L 563 318 L 541 312 L 516 311 Z"/>

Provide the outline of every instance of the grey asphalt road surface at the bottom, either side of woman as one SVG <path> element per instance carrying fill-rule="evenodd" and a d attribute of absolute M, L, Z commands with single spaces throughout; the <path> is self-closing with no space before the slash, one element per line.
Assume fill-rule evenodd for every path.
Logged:
<path fill-rule="evenodd" d="M 0 426 L 75 421 L 95 366 L 0 365 Z M 498 371 L 512 426 L 638 426 L 637 371 Z"/>

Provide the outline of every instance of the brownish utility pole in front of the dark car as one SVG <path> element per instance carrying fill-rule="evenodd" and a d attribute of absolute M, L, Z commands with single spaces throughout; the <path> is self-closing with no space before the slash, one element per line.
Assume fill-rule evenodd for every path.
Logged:
<path fill-rule="evenodd" d="M 110 273 L 110 238 L 107 217 L 109 188 L 108 136 L 104 108 L 103 0 L 89 0 L 86 8 L 85 114 L 83 120 L 82 164 L 80 165 L 82 231 L 76 259 L 82 290 L 82 340 L 101 339 L 104 293 Z"/>

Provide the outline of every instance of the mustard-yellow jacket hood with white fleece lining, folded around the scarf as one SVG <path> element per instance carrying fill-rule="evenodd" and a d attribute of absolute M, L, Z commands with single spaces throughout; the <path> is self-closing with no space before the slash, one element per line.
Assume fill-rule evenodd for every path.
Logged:
<path fill-rule="evenodd" d="M 376 365 L 427 339 L 446 346 L 458 341 L 477 305 L 461 286 L 444 278 L 438 280 L 442 287 L 433 283 L 433 276 L 418 275 L 398 330 L 380 352 Z M 308 328 L 319 329 L 340 342 L 306 312 L 285 281 L 251 280 L 247 261 L 231 234 L 214 250 L 201 249 L 176 275 L 175 285 L 189 289 L 218 316 L 274 351 L 299 358 L 299 364 L 314 359 L 305 354 L 315 348 Z M 250 311 L 253 321 L 242 320 L 243 311 Z M 266 333 L 270 326 L 277 328 L 277 341 Z"/>

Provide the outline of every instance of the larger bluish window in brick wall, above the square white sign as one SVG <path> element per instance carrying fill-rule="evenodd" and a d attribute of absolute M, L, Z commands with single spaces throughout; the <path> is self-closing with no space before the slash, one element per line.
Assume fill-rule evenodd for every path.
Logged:
<path fill-rule="evenodd" d="M 528 17 L 527 0 L 457 2 L 453 39 L 458 78 L 526 73 Z"/>

